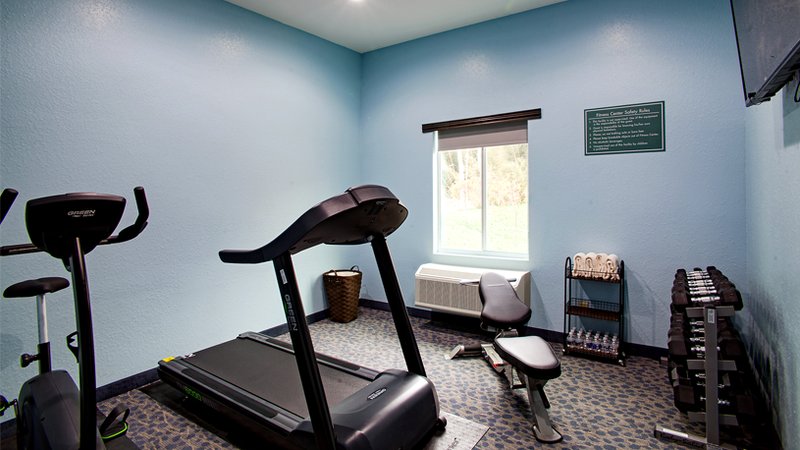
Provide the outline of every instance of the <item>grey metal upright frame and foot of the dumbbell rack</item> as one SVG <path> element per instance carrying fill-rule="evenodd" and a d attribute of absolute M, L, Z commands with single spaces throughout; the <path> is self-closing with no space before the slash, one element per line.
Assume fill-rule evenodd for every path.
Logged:
<path fill-rule="evenodd" d="M 741 308 L 741 302 L 739 301 L 736 306 Z M 702 318 L 705 331 L 705 357 L 703 359 L 690 358 L 686 361 L 686 366 L 690 371 L 705 373 L 705 411 L 689 411 L 688 417 L 690 422 L 705 423 L 706 435 L 698 436 L 656 425 L 653 430 L 656 438 L 705 448 L 735 448 L 729 445 L 723 446 L 720 440 L 721 425 L 739 426 L 739 422 L 734 414 L 720 413 L 718 380 L 720 373 L 735 372 L 737 367 L 733 360 L 720 359 L 717 348 L 719 319 L 733 317 L 735 309 L 733 305 L 720 305 L 716 302 L 685 308 L 687 317 Z"/>

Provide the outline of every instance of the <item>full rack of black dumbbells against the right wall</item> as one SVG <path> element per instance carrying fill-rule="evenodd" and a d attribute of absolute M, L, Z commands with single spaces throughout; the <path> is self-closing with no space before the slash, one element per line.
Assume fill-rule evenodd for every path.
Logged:
<path fill-rule="evenodd" d="M 676 407 L 690 422 L 705 423 L 706 433 L 698 436 L 657 425 L 655 437 L 705 448 L 736 448 L 721 443 L 720 426 L 737 427 L 739 417 L 757 415 L 749 382 L 741 381 L 751 379 L 743 374 L 748 367 L 745 348 L 728 320 L 741 308 L 738 290 L 715 267 L 676 272 L 668 375 Z M 734 388 L 737 383 L 744 386 Z M 728 391 L 728 398 L 720 398 L 721 389 Z"/>

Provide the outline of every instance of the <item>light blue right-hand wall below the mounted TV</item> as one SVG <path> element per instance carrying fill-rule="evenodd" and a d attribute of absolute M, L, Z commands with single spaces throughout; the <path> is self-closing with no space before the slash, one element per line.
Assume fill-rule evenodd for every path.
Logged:
<path fill-rule="evenodd" d="M 748 315 L 741 322 L 785 448 L 800 430 L 800 104 L 797 79 L 747 109 Z"/>

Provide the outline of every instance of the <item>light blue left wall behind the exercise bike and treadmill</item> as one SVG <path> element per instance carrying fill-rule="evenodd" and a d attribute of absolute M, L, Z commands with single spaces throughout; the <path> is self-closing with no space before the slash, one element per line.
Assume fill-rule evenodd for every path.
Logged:
<path fill-rule="evenodd" d="M 139 238 L 87 257 L 98 385 L 283 323 L 272 265 L 217 252 L 263 245 L 356 184 L 359 54 L 218 0 L 3 0 L 0 14 L 0 177 L 20 192 L 2 244 L 27 242 L 31 198 L 132 199 L 142 185 L 150 200 Z M 341 255 L 296 258 L 309 311 Z M 44 254 L 0 264 L 3 288 L 68 277 Z M 15 397 L 36 372 L 17 365 L 35 349 L 35 310 L 3 300 L 0 316 L 0 392 Z M 51 296 L 50 324 L 54 365 L 75 367 L 69 290 Z"/>

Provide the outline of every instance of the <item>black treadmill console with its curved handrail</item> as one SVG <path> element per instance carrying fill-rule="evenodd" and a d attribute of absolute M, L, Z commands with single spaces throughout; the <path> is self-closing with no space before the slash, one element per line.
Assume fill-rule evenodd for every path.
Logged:
<path fill-rule="evenodd" d="M 391 205 L 397 208 L 386 208 Z M 319 244 L 365 244 L 376 235 L 390 235 L 407 216 L 408 210 L 389 189 L 374 184 L 352 187 L 311 207 L 270 243 L 252 250 L 220 250 L 219 257 L 226 263 L 259 264 Z"/>

